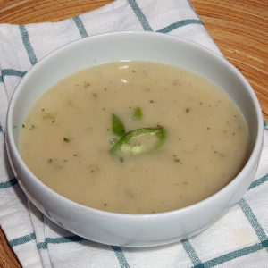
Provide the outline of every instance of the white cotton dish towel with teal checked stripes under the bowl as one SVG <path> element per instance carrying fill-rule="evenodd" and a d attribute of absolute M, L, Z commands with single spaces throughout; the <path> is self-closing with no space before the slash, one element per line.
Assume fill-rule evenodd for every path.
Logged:
<path fill-rule="evenodd" d="M 73 40 L 116 30 L 187 38 L 220 53 L 187 0 L 117 0 L 54 23 L 0 24 L 0 224 L 23 267 L 268 267 L 268 128 L 254 182 L 208 230 L 163 247 L 100 245 L 55 225 L 29 203 L 4 150 L 13 90 L 32 65 Z"/>

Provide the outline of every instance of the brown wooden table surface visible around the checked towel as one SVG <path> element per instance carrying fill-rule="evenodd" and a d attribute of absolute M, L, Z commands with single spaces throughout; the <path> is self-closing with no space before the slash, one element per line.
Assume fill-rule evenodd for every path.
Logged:
<path fill-rule="evenodd" d="M 111 2 L 113 0 L 0 0 L 0 23 L 61 21 Z M 268 1 L 191 2 L 222 54 L 254 88 L 268 121 Z M 0 267 L 21 267 L 1 229 Z"/>

